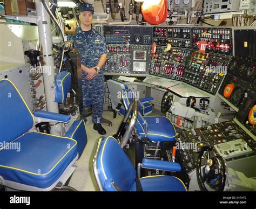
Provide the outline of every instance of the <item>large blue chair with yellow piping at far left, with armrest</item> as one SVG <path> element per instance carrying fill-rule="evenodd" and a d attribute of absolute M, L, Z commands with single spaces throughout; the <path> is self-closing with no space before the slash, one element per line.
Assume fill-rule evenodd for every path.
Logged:
<path fill-rule="evenodd" d="M 8 79 L 0 80 L 0 101 L 0 142 L 4 144 L 0 151 L 1 183 L 14 190 L 26 191 L 62 187 L 76 169 L 77 141 L 30 132 L 35 119 L 14 83 Z M 51 117 L 61 122 L 70 120 L 70 116 L 56 113 Z"/>

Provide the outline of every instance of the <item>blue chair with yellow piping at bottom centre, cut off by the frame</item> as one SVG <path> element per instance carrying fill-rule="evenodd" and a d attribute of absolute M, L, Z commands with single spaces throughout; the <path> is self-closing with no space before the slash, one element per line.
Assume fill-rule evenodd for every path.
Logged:
<path fill-rule="evenodd" d="M 142 168 L 178 172 L 178 163 L 143 159 Z M 187 191 L 184 183 L 173 176 L 136 177 L 129 157 L 115 138 L 99 138 L 93 171 L 100 191 Z"/>

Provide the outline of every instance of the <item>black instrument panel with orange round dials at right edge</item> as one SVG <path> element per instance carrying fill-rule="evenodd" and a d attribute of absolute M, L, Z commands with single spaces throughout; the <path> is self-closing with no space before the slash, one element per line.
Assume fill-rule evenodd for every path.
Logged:
<path fill-rule="evenodd" d="M 232 58 L 219 89 L 220 98 L 237 111 L 236 119 L 256 135 L 256 60 Z"/>

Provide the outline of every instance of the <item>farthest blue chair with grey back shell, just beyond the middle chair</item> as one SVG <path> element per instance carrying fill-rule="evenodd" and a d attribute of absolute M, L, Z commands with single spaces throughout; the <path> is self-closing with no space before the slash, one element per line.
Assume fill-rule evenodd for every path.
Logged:
<path fill-rule="evenodd" d="M 109 97 L 112 103 L 112 109 L 116 110 L 118 109 L 118 106 L 119 106 L 119 114 L 124 116 L 126 110 L 122 105 L 121 97 L 122 97 L 122 91 L 129 89 L 128 86 L 123 81 L 120 81 L 117 79 L 110 79 L 110 80 L 107 80 L 107 87 L 109 88 L 109 92 L 110 92 Z M 145 97 L 139 100 L 139 112 L 142 115 L 149 115 L 152 112 L 153 107 L 150 102 L 153 100 L 154 100 L 153 97 Z"/>

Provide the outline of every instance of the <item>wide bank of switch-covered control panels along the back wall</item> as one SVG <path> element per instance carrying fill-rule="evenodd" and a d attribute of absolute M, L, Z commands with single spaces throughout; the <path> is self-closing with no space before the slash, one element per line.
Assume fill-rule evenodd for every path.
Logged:
<path fill-rule="evenodd" d="M 230 59 L 225 55 L 232 55 L 233 51 L 230 27 L 105 25 L 104 36 L 109 50 L 104 72 L 150 72 L 184 80 L 213 95 L 223 80 Z M 202 41 L 205 52 L 200 48 Z M 150 53 L 152 44 L 155 44 L 156 50 Z M 143 48 L 135 49 L 136 46 Z"/>

